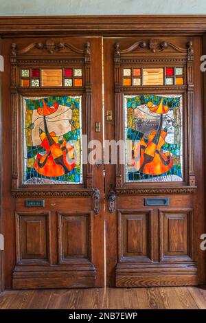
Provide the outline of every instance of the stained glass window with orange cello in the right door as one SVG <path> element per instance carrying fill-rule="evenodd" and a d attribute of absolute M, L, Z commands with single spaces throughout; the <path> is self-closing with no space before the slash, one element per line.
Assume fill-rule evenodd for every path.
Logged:
<path fill-rule="evenodd" d="M 181 95 L 124 96 L 126 181 L 183 181 Z"/>

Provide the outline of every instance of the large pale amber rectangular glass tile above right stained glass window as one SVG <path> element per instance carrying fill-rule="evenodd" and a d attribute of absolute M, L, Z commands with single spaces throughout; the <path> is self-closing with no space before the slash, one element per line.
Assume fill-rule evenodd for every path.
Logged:
<path fill-rule="evenodd" d="M 143 85 L 163 85 L 163 69 L 143 69 Z"/>

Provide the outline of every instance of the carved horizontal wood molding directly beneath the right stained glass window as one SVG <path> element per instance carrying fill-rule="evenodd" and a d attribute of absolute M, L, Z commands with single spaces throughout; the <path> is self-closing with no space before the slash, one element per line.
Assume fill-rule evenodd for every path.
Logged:
<path fill-rule="evenodd" d="M 152 195 L 152 194 L 193 194 L 196 186 L 183 186 L 173 188 L 115 188 L 117 195 Z"/>

